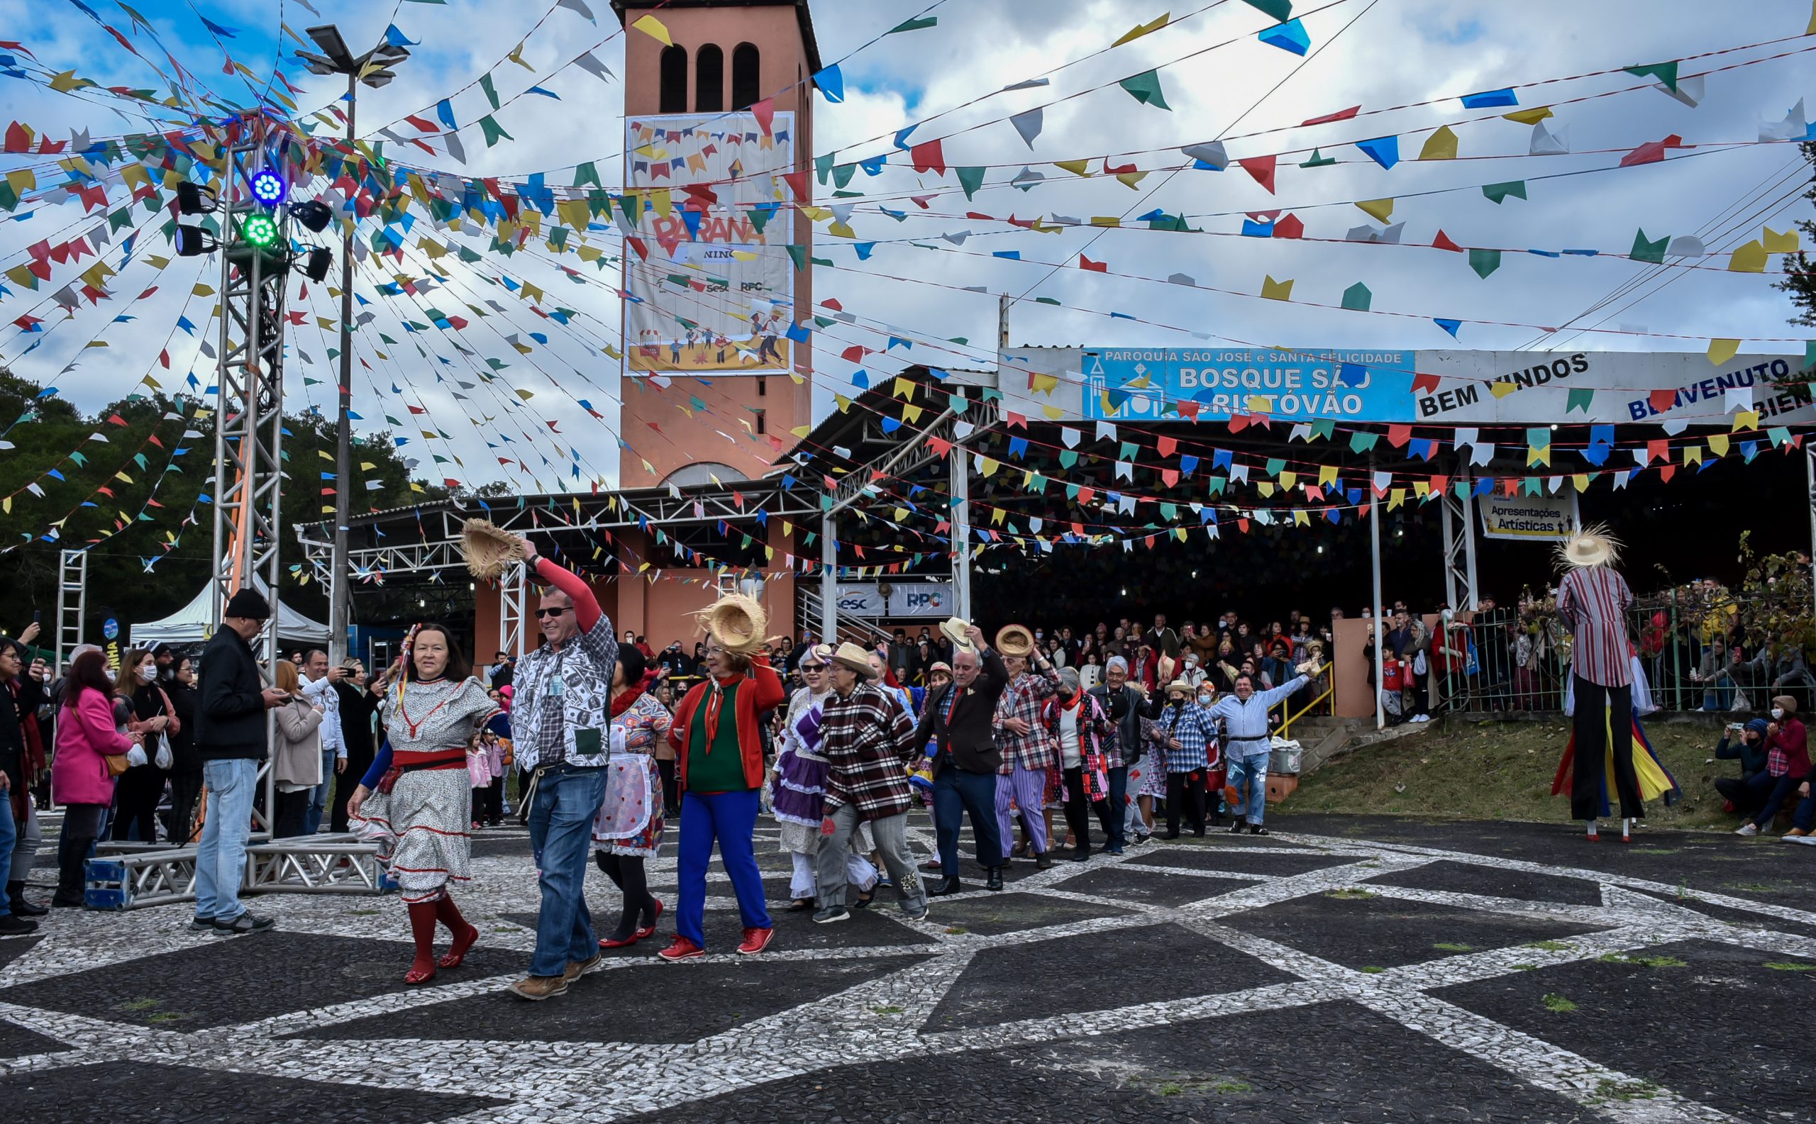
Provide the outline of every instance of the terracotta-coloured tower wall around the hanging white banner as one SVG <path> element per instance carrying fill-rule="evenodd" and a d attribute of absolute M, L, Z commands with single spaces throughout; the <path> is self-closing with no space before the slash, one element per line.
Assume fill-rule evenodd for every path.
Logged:
<path fill-rule="evenodd" d="M 641 15 L 639 9 L 625 13 L 627 22 L 636 22 Z M 694 107 L 697 49 L 705 44 L 717 44 L 725 53 L 725 96 L 726 105 L 730 105 L 732 51 L 739 44 L 754 44 L 761 53 L 763 93 L 786 91 L 775 96 L 775 109 L 795 114 L 795 169 L 812 167 L 814 98 L 810 87 L 797 85 L 806 82 L 808 64 L 792 5 L 679 7 L 661 9 L 656 16 L 668 27 L 676 45 L 688 51 L 690 111 Z M 625 36 L 625 116 L 661 111 L 661 53 L 663 45 L 648 35 Z M 808 182 L 812 183 L 812 176 Z M 812 223 L 804 218 L 795 220 L 795 238 L 804 242 L 808 254 L 812 254 Z M 812 307 L 814 272 L 804 269 L 795 274 L 795 320 L 806 320 Z M 765 394 L 761 396 L 757 394 L 757 376 L 745 374 L 672 376 L 665 389 L 641 378 L 627 378 L 619 416 L 621 432 L 630 443 L 630 450 L 619 452 L 619 487 L 657 485 L 676 468 L 696 461 L 728 465 L 741 479 L 761 478 L 779 456 L 768 438 L 774 436 L 783 443 L 783 449 L 790 449 L 797 439 L 792 430 L 812 423 L 812 341 L 794 345 L 794 370 L 804 381 L 795 383 L 786 374 L 772 374 L 763 380 Z M 681 407 L 688 407 L 690 398 L 699 398 L 706 409 L 683 412 Z M 766 436 L 754 436 L 752 409 L 765 410 Z M 746 429 L 743 421 L 750 421 L 752 429 Z M 659 432 L 650 429 L 652 423 L 659 427 Z M 721 432 L 728 434 L 730 439 L 719 436 Z M 645 468 L 645 461 L 648 461 L 648 468 Z"/>

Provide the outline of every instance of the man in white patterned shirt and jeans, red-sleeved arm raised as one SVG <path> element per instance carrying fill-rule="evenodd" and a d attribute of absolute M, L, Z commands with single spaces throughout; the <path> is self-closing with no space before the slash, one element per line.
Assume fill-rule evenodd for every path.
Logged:
<path fill-rule="evenodd" d="M 603 962 L 587 910 L 587 852 L 605 799 L 612 754 L 612 670 L 617 637 L 587 581 L 523 543 L 523 559 L 547 583 L 536 621 L 543 645 L 518 661 L 510 728 L 518 766 L 528 774 L 530 850 L 543 901 L 523 999 L 548 999 Z"/>

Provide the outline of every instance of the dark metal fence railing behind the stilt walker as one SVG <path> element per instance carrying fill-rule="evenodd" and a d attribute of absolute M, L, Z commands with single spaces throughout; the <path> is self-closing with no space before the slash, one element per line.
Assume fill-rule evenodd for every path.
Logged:
<path fill-rule="evenodd" d="M 1800 617 L 1809 619 L 1801 606 L 1762 597 L 1671 590 L 1634 603 L 1627 637 L 1660 710 L 1765 710 L 1771 695 L 1785 694 L 1807 712 L 1816 705 L 1816 675 Z M 1787 625 L 1774 632 L 1780 621 Z M 1447 646 L 1460 656 L 1427 654 L 1435 708 L 1564 708 L 1571 636 L 1554 617 L 1498 608 L 1453 625 L 1449 636 Z"/>

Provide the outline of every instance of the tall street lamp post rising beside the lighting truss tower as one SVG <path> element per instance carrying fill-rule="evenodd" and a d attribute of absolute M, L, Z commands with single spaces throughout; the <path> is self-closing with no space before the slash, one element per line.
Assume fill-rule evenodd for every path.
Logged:
<path fill-rule="evenodd" d="M 365 54 L 354 56 L 347 51 L 340 27 L 321 24 L 309 29 L 309 38 L 321 47 L 321 54 L 298 51 L 296 56 L 309 64 L 312 74 L 347 76 L 347 140 L 354 140 L 354 114 L 360 105 L 360 84 L 378 89 L 387 85 L 396 74 L 396 64 L 410 56 L 407 47 L 380 44 Z M 374 65 L 376 64 L 376 65 Z M 352 403 L 352 229 L 349 220 L 341 240 L 341 354 L 340 354 L 340 409 L 334 441 L 334 552 L 332 585 L 329 587 L 329 663 L 340 665 L 347 659 L 347 634 L 352 623 L 352 583 L 347 563 L 347 521 L 352 518 L 352 425 L 347 418 Z"/>

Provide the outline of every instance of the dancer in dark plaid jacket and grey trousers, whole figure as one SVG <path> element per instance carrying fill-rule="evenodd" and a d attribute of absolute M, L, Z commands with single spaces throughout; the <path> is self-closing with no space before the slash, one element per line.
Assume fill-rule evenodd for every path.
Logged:
<path fill-rule="evenodd" d="M 819 752 L 826 757 L 826 823 L 821 824 L 819 910 L 830 924 L 844 908 L 846 855 L 861 823 L 883 853 L 895 897 L 910 921 L 926 917 L 926 892 L 908 853 L 908 810 L 917 804 L 908 770 L 919 757 L 913 717 L 895 692 L 877 686 L 870 652 L 844 643 L 832 656 L 832 697 L 826 699 Z"/>

